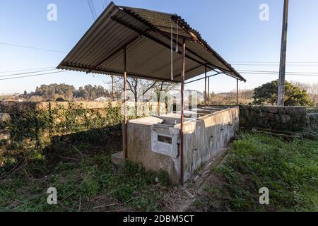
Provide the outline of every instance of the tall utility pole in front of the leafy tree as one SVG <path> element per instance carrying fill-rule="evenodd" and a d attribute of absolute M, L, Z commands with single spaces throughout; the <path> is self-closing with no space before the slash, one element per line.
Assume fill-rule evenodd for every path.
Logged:
<path fill-rule="evenodd" d="M 281 64 L 279 66 L 277 105 L 284 106 L 285 93 L 285 69 L 286 69 L 286 48 L 287 48 L 287 27 L 288 27 L 288 0 L 284 0 L 283 32 L 281 36 Z"/>

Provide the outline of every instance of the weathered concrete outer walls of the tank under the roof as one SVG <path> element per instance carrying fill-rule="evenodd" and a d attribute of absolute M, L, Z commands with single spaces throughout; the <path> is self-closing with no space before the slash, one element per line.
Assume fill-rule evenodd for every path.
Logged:
<path fill-rule="evenodd" d="M 184 124 L 184 181 L 187 181 L 196 169 L 210 162 L 224 148 L 239 129 L 239 110 L 237 107 L 208 114 Z M 179 117 L 179 116 L 178 116 Z M 151 150 L 151 133 L 155 124 L 172 124 L 172 115 L 134 119 L 127 125 L 128 158 L 141 163 L 146 169 L 158 171 L 164 169 L 172 183 L 179 183 L 180 157 L 169 157 Z M 177 121 L 178 123 L 179 121 Z M 180 124 L 174 125 L 175 129 Z"/>

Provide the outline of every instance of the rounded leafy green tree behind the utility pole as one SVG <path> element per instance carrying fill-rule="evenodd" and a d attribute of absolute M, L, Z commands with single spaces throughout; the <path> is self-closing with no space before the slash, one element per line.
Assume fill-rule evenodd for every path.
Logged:
<path fill-rule="evenodd" d="M 254 89 L 254 105 L 277 105 L 278 80 L 266 83 Z M 312 101 L 305 90 L 292 83 L 285 82 L 285 106 L 312 106 Z"/>

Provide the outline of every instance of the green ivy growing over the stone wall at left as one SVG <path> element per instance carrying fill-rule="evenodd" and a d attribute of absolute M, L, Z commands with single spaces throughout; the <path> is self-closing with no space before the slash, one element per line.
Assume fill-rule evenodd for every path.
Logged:
<path fill-rule="evenodd" d="M 33 107 L 20 111 L 11 109 L 11 120 L 0 122 L 0 130 L 10 132 L 10 145 L 0 152 L 0 177 L 19 162 L 28 162 L 33 155 L 52 145 L 52 141 L 88 142 L 107 144 L 121 142 L 122 114 L 119 107 L 111 103 L 105 109 L 92 111 L 69 102 L 54 109 Z M 6 145 L 1 141 L 0 148 Z"/>

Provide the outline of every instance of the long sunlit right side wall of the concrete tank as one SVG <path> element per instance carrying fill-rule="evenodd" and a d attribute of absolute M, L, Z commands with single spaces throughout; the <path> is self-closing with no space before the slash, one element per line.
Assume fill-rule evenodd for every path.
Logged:
<path fill-rule="evenodd" d="M 184 180 L 196 169 L 210 162 L 222 148 L 228 145 L 239 129 L 237 107 L 201 117 L 185 124 Z"/>

